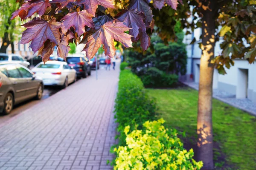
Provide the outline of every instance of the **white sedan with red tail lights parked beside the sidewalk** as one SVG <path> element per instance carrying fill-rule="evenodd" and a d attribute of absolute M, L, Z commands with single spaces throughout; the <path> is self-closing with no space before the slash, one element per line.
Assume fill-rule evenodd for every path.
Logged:
<path fill-rule="evenodd" d="M 40 62 L 32 71 L 35 76 L 43 79 L 44 85 L 61 85 L 65 88 L 76 81 L 76 70 L 70 68 L 66 62 Z"/>

